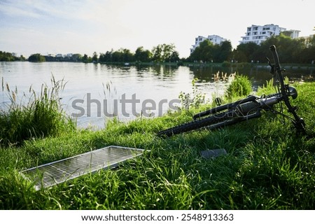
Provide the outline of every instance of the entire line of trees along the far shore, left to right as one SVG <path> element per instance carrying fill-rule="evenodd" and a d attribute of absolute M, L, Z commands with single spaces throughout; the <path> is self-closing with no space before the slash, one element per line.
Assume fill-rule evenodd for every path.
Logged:
<path fill-rule="evenodd" d="M 224 41 L 220 45 L 214 45 L 205 40 L 195 48 L 187 58 L 180 58 L 174 44 L 159 44 L 152 50 L 139 47 L 135 52 L 126 48 L 94 52 L 92 57 L 88 55 L 73 54 L 66 57 L 52 57 L 34 54 L 29 56 L 29 62 L 266 62 L 265 57 L 270 56 L 269 46 L 276 45 L 282 63 L 309 64 L 315 60 L 315 36 L 304 39 L 293 39 L 284 34 L 272 36 L 260 45 L 256 43 L 241 43 L 236 49 L 232 49 L 230 41 Z M 0 51 L 0 61 L 17 61 L 25 58 L 14 57 L 11 53 Z"/>

